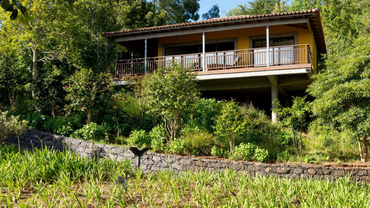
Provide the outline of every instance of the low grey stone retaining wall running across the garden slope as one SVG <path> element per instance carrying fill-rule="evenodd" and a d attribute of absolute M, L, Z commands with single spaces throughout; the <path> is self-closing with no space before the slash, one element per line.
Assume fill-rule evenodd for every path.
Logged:
<path fill-rule="evenodd" d="M 9 138 L 4 142 L 18 145 L 18 137 Z M 134 158 L 134 155 L 128 148 L 95 144 L 37 130 L 27 130 L 22 137 L 19 137 L 19 143 L 23 148 L 53 147 L 55 150 L 69 150 L 85 157 L 110 157 L 115 160 Z M 273 175 L 287 178 L 336 179 L 344 175 L 350 175 L 351 180 L 370 182 L 370 168 L 334 168 L 307 165 L 266 164 L 247 161 L 209 160 L 196 157 L 159 154 L 155 152 L 147 152 L 141 158 L 141 166 L 145 172 L 155 172 L 160 168 L 170 168 L 175 172 L 185 170 L 216 171 L 230 168 L 252 176 Z M 132 162 L 135 163 L 135 160 L 132 160 Z"/>

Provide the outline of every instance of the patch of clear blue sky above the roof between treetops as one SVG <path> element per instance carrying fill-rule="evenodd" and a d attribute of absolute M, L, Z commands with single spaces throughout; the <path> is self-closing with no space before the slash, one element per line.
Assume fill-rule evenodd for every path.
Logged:
<path fill-rule="evenodd" d="M 215 4 L 218 4 L 218 7 L 220 8 L 220 16 L 224 17 L 225 14 L 222 13 L 222 11 L 228 12 L 230 9 L 235 8 L 237 3 L 246 4 L 248 1 L 252 0 L 200 0 L 199 4 L 201 8 L 199 9 L 198 13 L 201 18 L 199 20 L 202 20 L 202 14 L 206 13 Z M 290 0 L 286 2 L 289 4 Z"/>

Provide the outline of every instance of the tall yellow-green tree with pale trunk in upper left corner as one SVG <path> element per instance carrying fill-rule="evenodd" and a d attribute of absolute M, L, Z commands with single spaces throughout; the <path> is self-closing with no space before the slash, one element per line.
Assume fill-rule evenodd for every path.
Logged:
<path fill-rule="evenodd" d="M 4 45 L 4 50 L 30 50 L 26 56 L 33 62 L 33 77 L 40 62 L 66 58 L 70 63 L 77 63 L 79 53 L 73 41 L 81 28 L 77 10 L 64 0 L 34 0 L 26 2 L 24 8 L 33 14 L 33 21 L 26 25 L 3 21 L 1 41 L 9 43 Z"/>

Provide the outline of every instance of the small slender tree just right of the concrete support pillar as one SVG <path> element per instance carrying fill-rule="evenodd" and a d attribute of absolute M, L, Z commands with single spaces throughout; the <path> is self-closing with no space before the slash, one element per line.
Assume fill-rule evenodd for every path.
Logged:
<path fill-rule="evenodd" d="M 292 107 L 284 108 L 278 100 L 274 100 L 276 109 L 273 110 L 277 114 L 280 125 L 287 127 L 292 132 L 293 145 L 296 149 L 302 151 L 302 132 L 307 126 L 307 116 L 310 113 L 310 106 L 305 101 L 306 97 L 295 97 Z"/>

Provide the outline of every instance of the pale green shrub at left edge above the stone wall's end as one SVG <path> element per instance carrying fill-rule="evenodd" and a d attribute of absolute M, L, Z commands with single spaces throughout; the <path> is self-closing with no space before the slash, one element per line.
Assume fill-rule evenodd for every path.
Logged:
<path fill-rule="evenodd" d="M 27 128 L 27 121 L 20 121 L 19 116 L 7 114 L 7 111 L 0 111 L 0 141 L 13 135 L 20 135 Z"/>

